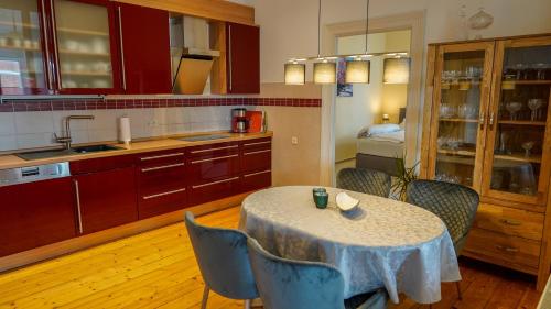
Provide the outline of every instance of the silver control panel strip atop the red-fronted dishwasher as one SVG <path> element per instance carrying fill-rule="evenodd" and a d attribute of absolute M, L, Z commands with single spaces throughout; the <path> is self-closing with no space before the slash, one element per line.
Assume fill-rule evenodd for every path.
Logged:
<path fill-rule="evenodd" d="M 0 187 L 71 176 L 68 162 L 0 169 Z"/>

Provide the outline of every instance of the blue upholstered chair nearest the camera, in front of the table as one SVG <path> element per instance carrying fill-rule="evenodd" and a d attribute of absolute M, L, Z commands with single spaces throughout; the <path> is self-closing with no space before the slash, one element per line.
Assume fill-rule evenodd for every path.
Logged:
<path fill-rule="evenodd" d="M 274 256 L 253 239 L 248 240 L 248 246 L 266 309 L 387 308 L 388 296 L 382 289 L 354 297 L 350 302 L 361 302 L 359 306 L 345 304 L 343 275 L 331 265 Z"/>

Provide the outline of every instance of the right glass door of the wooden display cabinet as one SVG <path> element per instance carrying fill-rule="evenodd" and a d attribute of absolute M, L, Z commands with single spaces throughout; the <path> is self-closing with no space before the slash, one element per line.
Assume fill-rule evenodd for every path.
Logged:
<path fill-rule="evenodd" d="M 485 195 L 543 203 L 549 178 L 551 37 L 498 42 Z M 540 194 L 541 192 L 541 194 Z"/>

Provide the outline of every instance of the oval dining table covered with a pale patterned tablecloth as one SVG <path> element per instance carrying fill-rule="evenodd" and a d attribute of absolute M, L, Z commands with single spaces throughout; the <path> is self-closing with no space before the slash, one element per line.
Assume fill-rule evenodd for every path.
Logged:
<path fill-rule="evenodd" d="M 345 297 L 385 287 L 420 304 L 440 301 L 442 282 L 461 280 L 452 240 L 440 218 L 422 208 L 359 192 L 359 209 L 343 214 L 329 203 L 317 209 L 306 186 L 274 187 L 248 196 L 239 228 L 269 252 L 324 262 L 345 279 Z"/>

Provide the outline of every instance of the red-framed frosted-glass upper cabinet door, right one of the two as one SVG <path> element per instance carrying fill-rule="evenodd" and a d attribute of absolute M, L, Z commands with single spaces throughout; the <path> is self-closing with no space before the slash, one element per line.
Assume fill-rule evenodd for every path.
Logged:
<path fill-rule="evenodd" d="M 118 29 L 108 0 L 52 0 L 52 40 L 60 93 L 120 91 Z"/>

